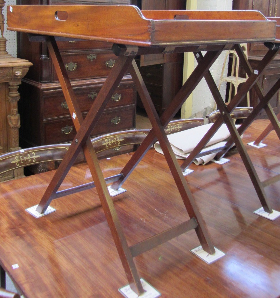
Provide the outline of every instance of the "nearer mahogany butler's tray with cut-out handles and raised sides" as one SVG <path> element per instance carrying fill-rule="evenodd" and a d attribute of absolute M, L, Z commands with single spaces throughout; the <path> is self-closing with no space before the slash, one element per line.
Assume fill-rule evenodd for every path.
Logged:
<path fill-rule="evenodd" d="M 131 5 L 12 5 L 7 24 L 13 31 L 135 46 L 274 41 L 276 35 L 276 21 L 258 11 L 141 11 Z"/>

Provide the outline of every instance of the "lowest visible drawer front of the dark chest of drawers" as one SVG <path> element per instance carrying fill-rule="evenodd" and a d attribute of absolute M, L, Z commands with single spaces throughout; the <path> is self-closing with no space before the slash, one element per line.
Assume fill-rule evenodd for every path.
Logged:
<path fill-rule="evenodd" d="M 91 136 L 131 129 L 134 127 L 134 108 L 106 111 L 100 117 Z M 71 118 L 44 124 L 45 145 L 71 142 L 75 135 Z"/>

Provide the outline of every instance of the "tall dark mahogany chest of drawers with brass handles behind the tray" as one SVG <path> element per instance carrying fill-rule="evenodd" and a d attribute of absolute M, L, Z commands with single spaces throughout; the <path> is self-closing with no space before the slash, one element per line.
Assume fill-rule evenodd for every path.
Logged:
<path fill-rule="evenodd" d="M 130 0 L 18 0 L 17 4 L 131 4 Z M 79 107 L 85 116 L 114 67 L 117 57 L 112 44 L 93 41 L 59 41 L 58 47 L 71 80 Z M 30 42 L 18 34 L 18 57 L 33 63 L 21 86 L 19 105 L 22 148 L 71 142 L 76 134 L 62 89 L 47 47 Z M 129 74 L 125 75 L 108 103 L 91 136 L 135 128 L 136 89 Z"/>

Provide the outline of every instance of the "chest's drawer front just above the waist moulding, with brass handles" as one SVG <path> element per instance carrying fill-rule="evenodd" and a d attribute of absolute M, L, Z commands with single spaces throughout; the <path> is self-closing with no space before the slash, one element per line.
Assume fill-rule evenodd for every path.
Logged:
<path fill-rule="evenodd" d="M 107 77 L 117 60 L 112 51 L 84 51 L 77 53 L 63 53 L 62 60 L 70 80 Z M 58 77 L 52 65 L 52 81 Z"/>

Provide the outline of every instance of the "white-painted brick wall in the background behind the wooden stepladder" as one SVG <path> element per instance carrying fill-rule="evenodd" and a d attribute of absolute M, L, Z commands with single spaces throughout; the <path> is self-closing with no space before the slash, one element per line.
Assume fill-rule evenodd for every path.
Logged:
<path fill-rule="evenodd" d="M 232 0 L 198 0 L 197 10 L 232 10 Z M 225 53 L 223 52 L 220 57 L 215 61 L 215 63 L 210 68 L 210 72 L 218 86 L 221 70 L 224 63 Z M 195 66 L 197 65 L 195 61 Z M 224 76 L 227 75 L 227 64 L 224 71 Z M 221 95 L 225 100 L 226 95 L 226 83 L 221 85 Z M 207 106 L 214 106 L 213 96 L 203 79 L 193 92 L 192 97 L 192 114 L 203 110 Z"/>

